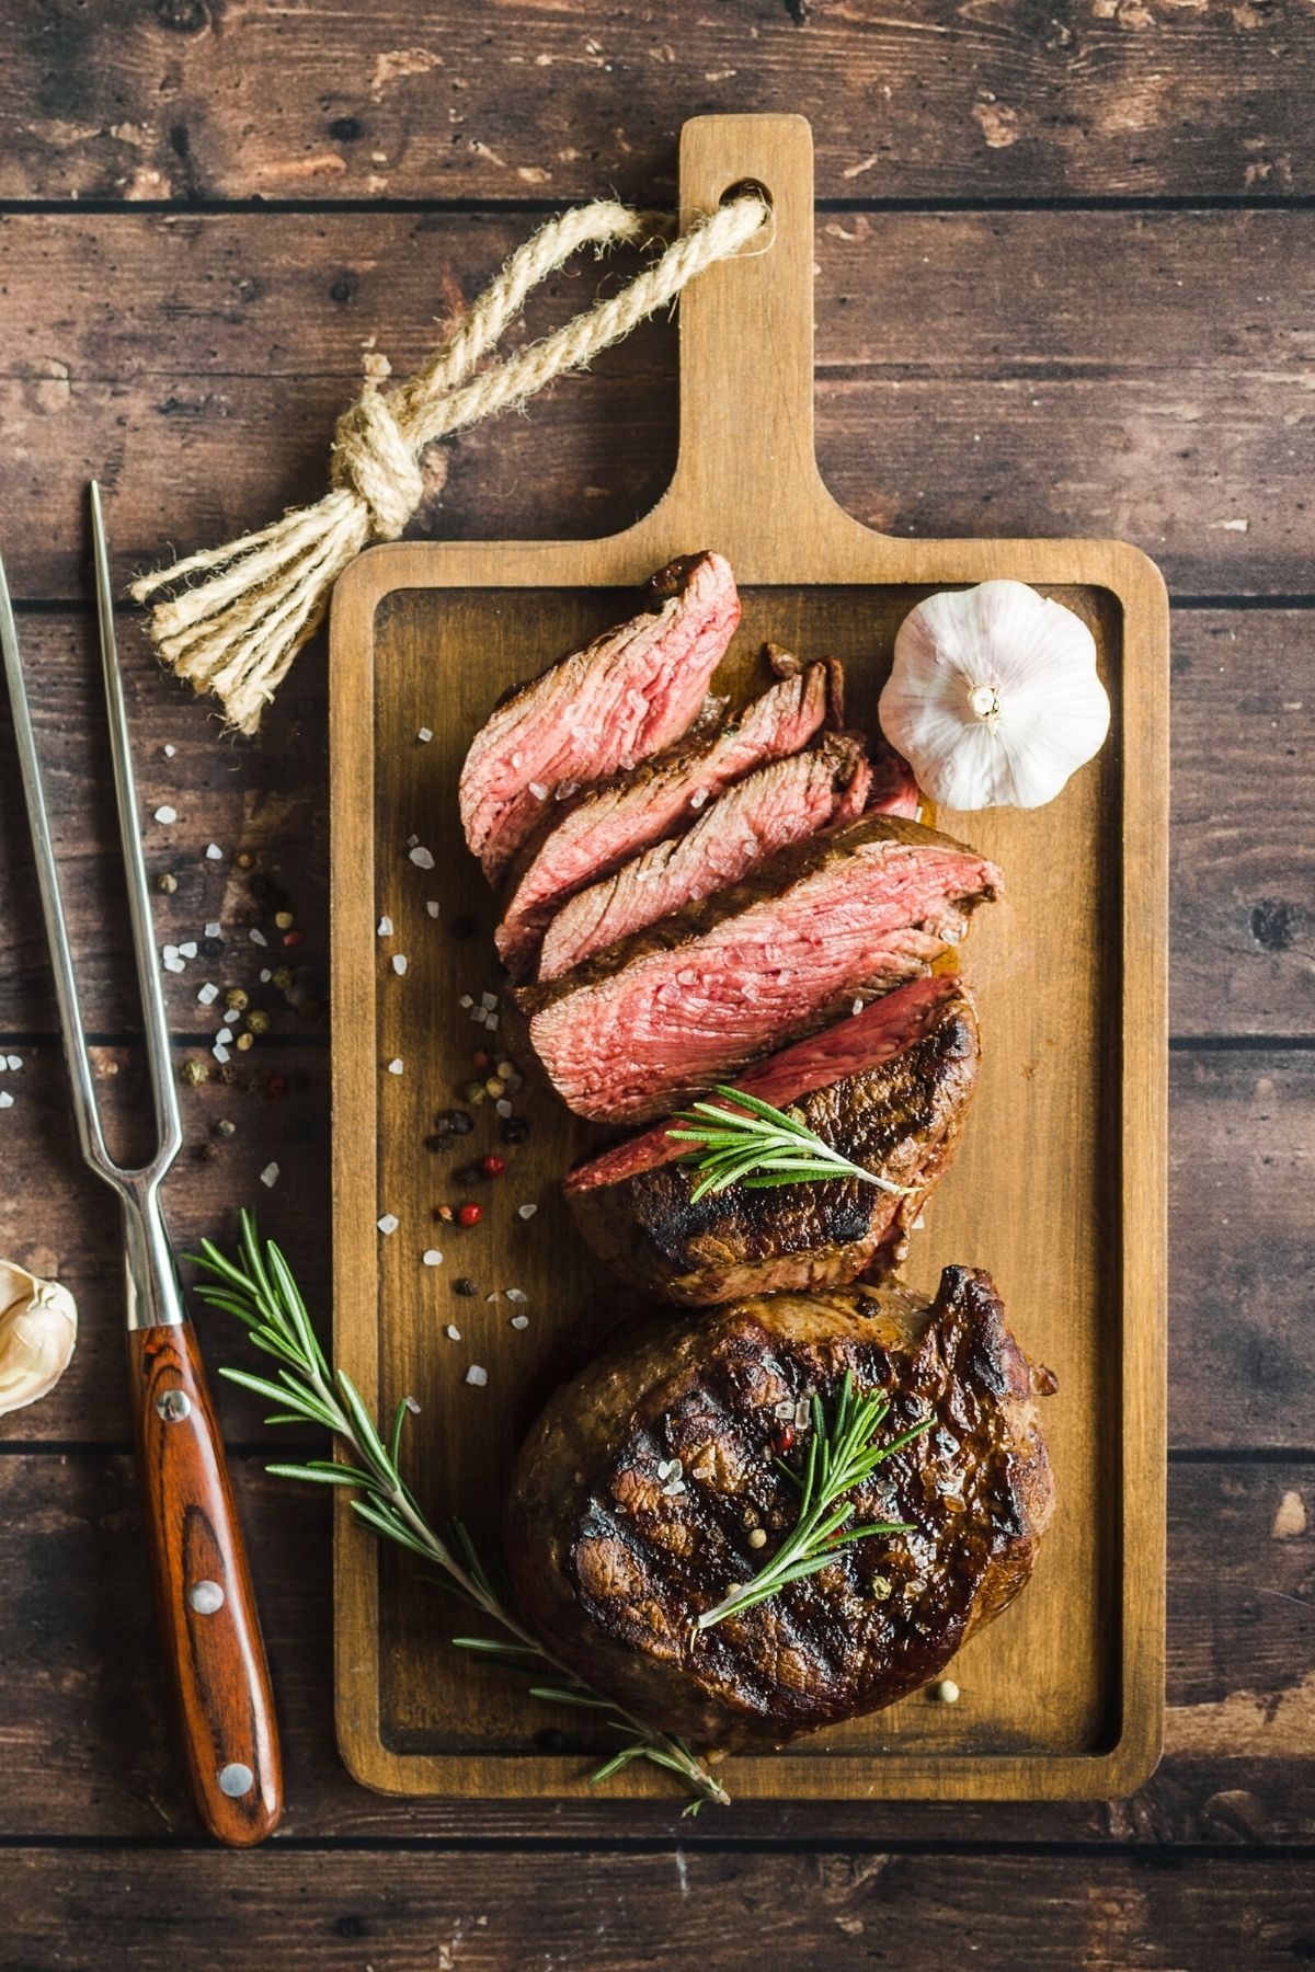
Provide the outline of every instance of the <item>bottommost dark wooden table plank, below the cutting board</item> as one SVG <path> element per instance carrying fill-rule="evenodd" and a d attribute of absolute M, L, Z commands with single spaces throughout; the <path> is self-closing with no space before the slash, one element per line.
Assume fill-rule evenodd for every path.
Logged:
<path fill-rule="evenodd" d="M 1002 1893 L 998 1856 L 735 1850 L 657 1854 L 576 1850 L 471 1856 L 396 1850 L 250 1858 L 144 1854 L 126 1877 L 116 1856 L 8 1850 L 0 1895 L 14 1907 L 10 1948 L 49 1964 L 95 1913 L 110 1960 L 172 1972 L 179 1954 L 244 1972 L 278 1933 L 286 1972 L 386 1964 L 388 1972 L 507 1972 L 552 1952 L 580 1972 L 684 1972 L 700 1964 L 871 1966 L 899 1940 L 899 1964 L 1027 1964 L 1181 1972 L 1246 1966 L 1289 1972 L 1311 1948 L 1309 1864 L 1211 1856 L 1171 1869 L 1140 1858 L 1027 1858 Z M 142 1909 L 150 1909 L 150 1921 Z M 530 1917 L 532 1913 L 532 1917 Z M 552 1940 L 552 1942 L 548 1942 Z M 382 1954 L 382 1956 L 381 1956 Z M 879 1962 L 879 1958 L 877 1958 Z"/>

